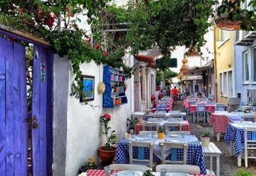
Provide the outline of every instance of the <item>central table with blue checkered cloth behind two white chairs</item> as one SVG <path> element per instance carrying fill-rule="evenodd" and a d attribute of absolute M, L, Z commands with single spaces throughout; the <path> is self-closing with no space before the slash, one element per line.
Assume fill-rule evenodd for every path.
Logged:
<path fill-rule="evenodd" d="M 167 138 L 171 139 L 171 138 Z M 165 139 L 154 139 L 154 152 L 153 162 L 162 162 L 161 149 L 158 143 L 164 142 Z M 181 140 L 180 137 L 174 138 L 174 140 Z M 187 165 L 197 165 L 200 167 L 201 174 L 206 174 L 206 165 L 203 158 L 203 149 L 197 137 L 185 136 L 182 141 L 187 143 Z M 149 159 L 149 150 L 145 150 L 146 159 Z M 133 150 L 133 155 L 138 155 L 136 149 Z M 177 159 L 181 160 L 183 157 L 183 149 L 177 149 Z M 171 159 L 171 153 L 168 153 L 167 159 Z M 129 162 L 129 140 L 122 139 L 117 143 L 117 164 L 128 164 Z"/>

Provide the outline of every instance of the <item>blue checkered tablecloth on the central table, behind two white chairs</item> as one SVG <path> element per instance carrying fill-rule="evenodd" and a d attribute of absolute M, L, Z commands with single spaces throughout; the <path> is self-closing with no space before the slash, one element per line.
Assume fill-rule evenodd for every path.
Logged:
<path fill-rule="evenodd" d="M 117 143 L 117 164 L 128 164 L 129 163 L 129 140 L 122 139 Z M 193 141 L 188 144 L 187 149 L 187 165 L 198 165 L 200 167 L 201 174 L 206 174 L 206 166 L 203 158 L 203 150 L 199 141 Z M 138 156 L 138 151 L 133 150 L 133 156 Z M 183 157 L 183 149 L 177 149 L 177 160 L 181 160 Z M 145 151 L 145 158 L 149 159 L 149 150 Z M 171 154 L 167 156 L 167 159 L 171 159 Z M 153 162 L 161 162 L 161 159 L 153 154 Z"/>

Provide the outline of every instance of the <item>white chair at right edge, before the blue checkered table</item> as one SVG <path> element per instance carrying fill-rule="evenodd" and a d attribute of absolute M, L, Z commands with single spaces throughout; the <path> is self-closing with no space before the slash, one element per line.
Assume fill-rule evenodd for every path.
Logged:
<path fill-rule="evenodd" d="M 245 168 L 248 168 L 248 159 L 256 159 L 256 127 L 245 127 L 245 147 L 242 158 L 245 159 Z M 252 139 L 248 140 L 248 135 Z"/>

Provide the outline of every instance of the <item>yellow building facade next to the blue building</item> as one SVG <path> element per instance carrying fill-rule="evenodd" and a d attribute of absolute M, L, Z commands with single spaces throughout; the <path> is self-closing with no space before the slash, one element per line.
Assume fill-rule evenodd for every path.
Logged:
<path fill-rule="evenodd" d="M 214 29 L 214 68 L 215 68 L 215 97 L 216 102 L 227 104 L 233 95 L 233 32 Z"/>

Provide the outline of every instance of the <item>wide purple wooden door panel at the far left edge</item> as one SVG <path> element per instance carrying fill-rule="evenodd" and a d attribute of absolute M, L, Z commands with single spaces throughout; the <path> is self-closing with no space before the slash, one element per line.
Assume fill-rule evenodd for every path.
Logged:
<path fill-rule="evenodd" d="M 0 37 L 0 173 L 27 175 L 24 46 Z"/>

